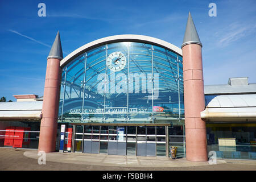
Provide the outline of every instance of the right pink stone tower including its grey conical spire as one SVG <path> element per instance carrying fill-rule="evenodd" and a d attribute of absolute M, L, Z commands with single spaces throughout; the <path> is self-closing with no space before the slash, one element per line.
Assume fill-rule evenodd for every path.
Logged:
<path fill-rule="evenodd" d="M 181 48 L 183 53 L 186 158 L 194 162 L 208 160 L 206 126 L 200 117 L 200 112 L 205 109 L 201 47 L 202 44 L 189 12 Z"/>

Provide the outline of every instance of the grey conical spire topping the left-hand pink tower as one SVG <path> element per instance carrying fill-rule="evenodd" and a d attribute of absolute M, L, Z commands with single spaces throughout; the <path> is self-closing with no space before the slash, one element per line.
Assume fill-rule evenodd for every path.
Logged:
<path fill-rule="evenodd" d="M 49 58 L 63 59 L 59 31 L 57 32 L 56 38 L 52 44 L 52 48 L 47 59 Z"/>

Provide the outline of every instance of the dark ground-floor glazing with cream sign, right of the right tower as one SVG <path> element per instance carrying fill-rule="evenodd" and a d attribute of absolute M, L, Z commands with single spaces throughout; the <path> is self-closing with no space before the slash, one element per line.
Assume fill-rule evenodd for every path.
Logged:
<path fill-rule="evenodd" d="M 254 123 L 207 124 L 209 151 L 217 159 L 256 159 Z"/>

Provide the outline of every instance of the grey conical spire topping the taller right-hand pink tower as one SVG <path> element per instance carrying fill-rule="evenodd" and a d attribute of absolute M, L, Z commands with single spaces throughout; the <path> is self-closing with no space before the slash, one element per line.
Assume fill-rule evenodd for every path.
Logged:
<path fill-rule="evenodd" d="M 187 27 L 185 30 L 185 35 L 184 35 L 184 39 L 183 39 L 183 43 L 182 43 L 181 47 L 183 47 L 187 44 L 199 44 L 202 46 L 202 43 L 197 34 L 196 27 L 195 27 L 195 24 L 193 22 L 190 12 L 188 14 Z"/>

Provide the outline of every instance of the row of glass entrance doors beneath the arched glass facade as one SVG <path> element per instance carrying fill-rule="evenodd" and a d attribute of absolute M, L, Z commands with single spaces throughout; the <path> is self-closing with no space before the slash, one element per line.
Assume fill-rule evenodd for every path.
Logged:
<path fill-rule="evenodd" d="M 170 124 L 72 123 L 72 152 L 168 156 Z"/>

